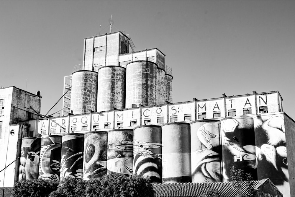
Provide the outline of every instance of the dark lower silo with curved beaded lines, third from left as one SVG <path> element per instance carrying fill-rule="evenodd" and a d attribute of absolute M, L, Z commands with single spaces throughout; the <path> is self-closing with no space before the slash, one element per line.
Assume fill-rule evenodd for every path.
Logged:
<path fill-rule="evenodd" d="M 83 133 L 63 134 L 61 144 L 60 179 L 83 177 Z"/>

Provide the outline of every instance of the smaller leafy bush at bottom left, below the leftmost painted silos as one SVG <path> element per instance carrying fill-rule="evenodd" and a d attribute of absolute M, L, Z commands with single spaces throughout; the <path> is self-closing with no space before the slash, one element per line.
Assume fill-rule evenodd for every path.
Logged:
<path fill-rule="evenodd" d="M 13 197 L 48 197 L 58 188 L 58 181 L 28 179 L 17 182 L 12 190 Z"/>

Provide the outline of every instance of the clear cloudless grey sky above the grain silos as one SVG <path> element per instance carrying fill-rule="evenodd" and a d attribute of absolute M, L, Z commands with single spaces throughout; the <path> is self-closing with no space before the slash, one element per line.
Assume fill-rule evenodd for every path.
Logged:
<path fill-rule="evenodd" d="M 82 63 L 83 38 L 109 32 L 111 14 L 136 51 L 166 55 L 173 102 L 278 90 L 295 119 L 295 1 L 0 0 L 0 85 L 26 89 L 28 79 L 47 113 Z"/>

